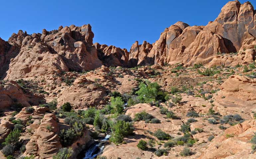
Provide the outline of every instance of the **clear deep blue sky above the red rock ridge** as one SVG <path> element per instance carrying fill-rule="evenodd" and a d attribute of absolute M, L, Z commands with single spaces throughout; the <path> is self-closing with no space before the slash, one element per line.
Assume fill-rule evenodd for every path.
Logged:
<path fill-rule="evenodd" d="M 59 26 L 90 24 L 93 42 L 127 48 L 138 40 L 155 42 L 166 27 L 177 21 L 206 25 L 228 0 L 3 0 L 0 37 L 13 32 L 53 30 Z M 240 0 L 244 3 L 246 0 Z M 256 1 L 251 0 L 256 6 Z M 256 8 L 256 7 L 255 7 Z"/>

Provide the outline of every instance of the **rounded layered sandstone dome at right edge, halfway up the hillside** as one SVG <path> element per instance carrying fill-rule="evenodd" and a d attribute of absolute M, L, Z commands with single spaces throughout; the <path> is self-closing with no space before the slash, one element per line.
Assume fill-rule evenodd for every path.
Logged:
<path fill-rule="evenodd" d="M 222 115 L 239 113 L 244 119 L 252 119 L 256 111 L 256 79 L 231 75 L 214 97 L 214 105 Z M 244 112 L 244 113 L 240 113 Z"/>

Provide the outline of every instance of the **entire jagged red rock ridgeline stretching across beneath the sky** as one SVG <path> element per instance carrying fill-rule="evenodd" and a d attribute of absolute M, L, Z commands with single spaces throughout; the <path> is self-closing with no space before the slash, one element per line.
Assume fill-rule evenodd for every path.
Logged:
<path fill-rule="evenodd" d="M 93 70 L 102 65 L 135 67 L 195 63 L 235 66 L 255 60 L 256 16 L 249 2 L 228 2 L 206 26 L 183 22 L 166 28 L 153 44 L 136 41 L 130 49 L 92 43 L 91 26 L 60 26 L 31 35 L 20 30 L 0 39 L 0 76 L 19 79 L 61 71 Z M 226 55 L 222 55 L 226 53 Z M 228 56 L 229 53 L 237 53 Z"/>

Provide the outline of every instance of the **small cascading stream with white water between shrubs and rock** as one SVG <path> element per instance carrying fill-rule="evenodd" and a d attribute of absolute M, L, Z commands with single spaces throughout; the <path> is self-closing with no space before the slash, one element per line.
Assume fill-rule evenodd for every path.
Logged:
<path fill-rule="evenodd" d="M 110 138 L 110 134 L 107 134 L 105 138 L 100 140 L 99 142 L 92 145 L 89 149 L 85 151 L 83 159 L 93 159 L 96 158 L 98 154 L 102 152 L 104 149 L 104 143 Z"/>

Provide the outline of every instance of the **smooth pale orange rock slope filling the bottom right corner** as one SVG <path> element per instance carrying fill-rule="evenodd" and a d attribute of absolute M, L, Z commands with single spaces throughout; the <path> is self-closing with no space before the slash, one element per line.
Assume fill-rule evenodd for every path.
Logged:
<path fill-rule="evenodd" d="M 215 137 L 199 159 L 254 158 L 251 154 L 252 144 L 248 141 L 256 132 L 256 121 L 248 120 L 225 130 L 224 134 Z M 226 137 L 233 134 L 234 137 Z"/>

